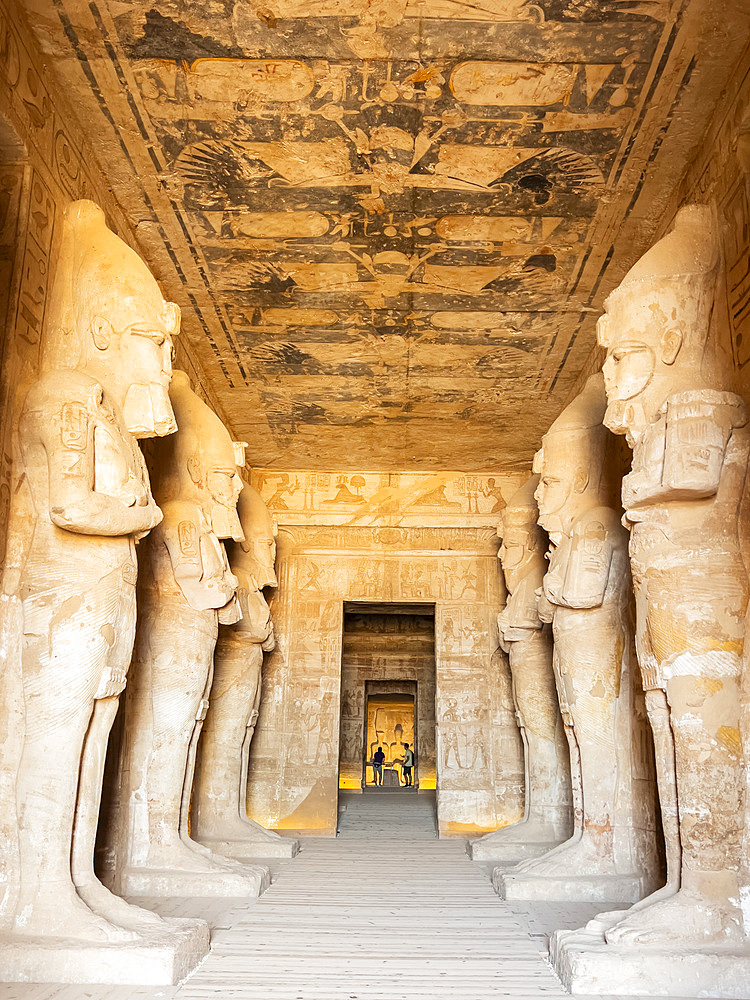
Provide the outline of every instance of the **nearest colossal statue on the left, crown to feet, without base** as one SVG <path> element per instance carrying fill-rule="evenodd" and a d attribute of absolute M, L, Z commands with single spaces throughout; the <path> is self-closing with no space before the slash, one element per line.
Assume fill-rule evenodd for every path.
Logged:
<path fill-rule="evenodd" d="M 93 854 L 133 649 L 135 545 L 162 518 L 137 439 L 175 430 L 179 321 L 101 209 L 69 205 L 42 373 L 20 414 L 11 528 L 21 555 L 5 575 L 20 601 L 25 716 L 18 839 L 0 846 L 0 923 L 12 937 L 116 943 L 167 927 L 105 889 Z"/>

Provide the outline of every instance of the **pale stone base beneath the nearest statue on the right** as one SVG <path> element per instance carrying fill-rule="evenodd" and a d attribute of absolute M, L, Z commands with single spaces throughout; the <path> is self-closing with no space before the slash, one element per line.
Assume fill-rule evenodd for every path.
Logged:
<path fill-rule="evenodd" d="M 550 960 L 571 993 L 744 1000 L 750 947 L 709 951 L 607 944 L 596 932 L 555 931 Z"/>

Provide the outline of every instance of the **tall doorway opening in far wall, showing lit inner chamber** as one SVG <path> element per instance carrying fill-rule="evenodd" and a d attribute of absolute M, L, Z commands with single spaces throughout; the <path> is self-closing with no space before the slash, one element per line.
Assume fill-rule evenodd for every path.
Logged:
<path fill-rule="evenodd" d="M 433 604 L 344 604 L 340 734 L 340 790 L 435 789 Z M 406 743 L 414 752 L 410 787 L 403 773 Z M 379 746 L 385 763 L 383 785 L 376 788 Z"/>

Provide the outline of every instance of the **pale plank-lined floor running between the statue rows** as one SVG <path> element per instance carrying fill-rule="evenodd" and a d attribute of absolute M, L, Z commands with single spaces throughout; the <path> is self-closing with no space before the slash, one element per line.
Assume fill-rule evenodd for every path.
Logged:
<path fill-rule="evenodd" d="M 434 793 L 347 793 L 339 837 L 272 863 L 258 901 L 162 903 L 213 928 L 181 986 L 0 984 L 0 1000 L 563 1000 L 546 934 L 601 907 L 500 900 L 434 815 Z"/>

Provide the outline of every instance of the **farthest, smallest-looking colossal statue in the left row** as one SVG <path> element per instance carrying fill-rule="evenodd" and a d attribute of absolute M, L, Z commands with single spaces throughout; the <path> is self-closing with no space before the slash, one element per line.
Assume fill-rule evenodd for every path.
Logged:
<path fill-rule="evenodd" d="M 229 857 L 291 858 L 297 841 L 264 829 L 247 815 L 247 771 L 260 706 L 263 652 L 275 646 L 263 588 L 277 586 L 276 540 L 273 519 L 252 486 L 244 486 L 237 512 L 245 537 L 228 543 L 228 556 L 239 581 L 242 618 L 219 629 L 198 749 L 193 831 L 200 843 Z"/>

